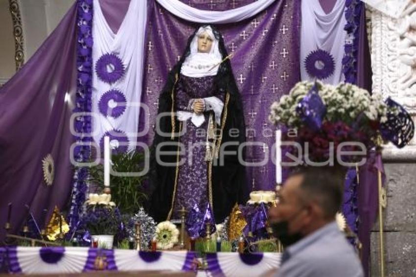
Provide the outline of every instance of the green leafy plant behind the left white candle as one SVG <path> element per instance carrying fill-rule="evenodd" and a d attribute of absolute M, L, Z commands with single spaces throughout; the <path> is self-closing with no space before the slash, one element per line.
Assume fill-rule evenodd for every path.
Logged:
<path fill-rule="evenodd" d="M 144 154 L 130 151 L 112 154 L 113 170 L 122 173 L 138 173 L 143 170 Z M 121 174 L 117 175 L 123 175 Z M 124 174 L 126 175 L 126 174 Z M 100 188 L 104 188 L 104 166 L 99 164 L 90 168 L 89 180 Z M 144 193 L 144 176 L 110 175 L 111 200 L 122 213 L 134 214 L 147 199 Z"/>

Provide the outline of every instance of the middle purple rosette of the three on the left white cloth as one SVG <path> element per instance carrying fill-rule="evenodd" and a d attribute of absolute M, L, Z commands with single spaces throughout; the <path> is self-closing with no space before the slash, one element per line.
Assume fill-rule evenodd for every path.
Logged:
<path fill-rule="evenodd" d="M 109 103 L 111 100 L 115 102 L 115 107 L 110 107 Z M 110 90 L 101 95 L 101 98 L 98 101 L 98 109 L 104 116 L 117 118 L 126 110 L 126 102 L 126 97 L 122 92 L 118 90 Z"/>

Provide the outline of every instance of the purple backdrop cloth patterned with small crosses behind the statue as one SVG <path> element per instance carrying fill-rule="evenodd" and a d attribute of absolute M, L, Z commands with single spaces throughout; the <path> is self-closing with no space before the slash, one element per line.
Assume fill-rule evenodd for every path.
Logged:
<path fill-rule="evenodd" d="M 228 10 L 253 2 L 224 1 L 211 3 L 199 0 L 184 1 L 198 9 Z M 188 37 L 199 24 L 178 19 L 154 1 L 149 1 L 145 75 L 142 103 L 149 106 L 150 115 L 140 112 L 140 126 L 155 123 L 157 101 L 168 71 L 178 61 Z M 276 0 L 266 10 L 239 23 L 219 24 L 219 31 L 231 59 L 246 119 L 247 162 L 269 158 L 262 166 L 248 166 L 247 180 L 251 189 L 274 189 L 276 165 L 272 162 L 275 127 L 269 122 L 270 106 L 286 94 L 300 80 L 300 0 Z M 143 111 L 143 110 L 142 110 Z M 146 117 L 146 118 L 145 118 Z M 152 129 L 152 128 L 150 128 Z M 151 143 L 153 130 L 144 138 Z"/>

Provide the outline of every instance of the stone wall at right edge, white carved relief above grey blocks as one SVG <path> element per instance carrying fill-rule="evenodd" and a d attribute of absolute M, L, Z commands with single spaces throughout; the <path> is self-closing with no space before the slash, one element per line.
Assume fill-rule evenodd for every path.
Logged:
<path fill-rule="evenodd" d="M 373 92 L 392 97 L 416 121 L 416 1 L 367 0 Z M 378 2 L 378 4 L 375 4 Z M 377 6 L 378 5 L 378 6 Z M 383 150 L 387 176 L 384 212 L 386 276 L 416 276 L 416 140 Z M 379 272 L 378 224 L 371 234 L 371 276 Z"/>

